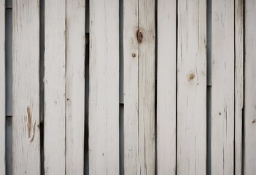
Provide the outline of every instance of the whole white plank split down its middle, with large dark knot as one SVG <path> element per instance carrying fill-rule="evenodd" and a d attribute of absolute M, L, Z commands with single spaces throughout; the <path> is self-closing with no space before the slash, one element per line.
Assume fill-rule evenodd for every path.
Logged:
<path fill-rule="evenodd" d="M 124 1 L 125 174 L 155 174 L 155 1 Z"/>

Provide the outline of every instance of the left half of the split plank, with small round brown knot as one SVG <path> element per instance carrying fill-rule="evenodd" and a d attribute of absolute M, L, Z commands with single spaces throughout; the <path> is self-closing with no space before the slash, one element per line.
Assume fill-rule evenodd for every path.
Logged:
<path fill-rule="evenodd" d="M 123 3 L 124 172 L 139 174 L 139 4 Z"/>

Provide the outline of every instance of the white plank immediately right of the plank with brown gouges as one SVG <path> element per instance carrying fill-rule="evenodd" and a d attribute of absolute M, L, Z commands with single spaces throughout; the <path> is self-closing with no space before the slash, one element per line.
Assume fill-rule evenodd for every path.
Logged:
<path fill-rule="evenodd" d="M 66 0 L 44 3 L 44 173 L 65 174 Z"/>

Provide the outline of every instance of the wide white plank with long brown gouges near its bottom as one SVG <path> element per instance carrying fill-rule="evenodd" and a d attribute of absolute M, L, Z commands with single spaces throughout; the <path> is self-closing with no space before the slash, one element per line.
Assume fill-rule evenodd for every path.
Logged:
<path fill-rule="evenodd" d="M 39 0 L 12 12 L 12 174 L 40 174 Z"/>

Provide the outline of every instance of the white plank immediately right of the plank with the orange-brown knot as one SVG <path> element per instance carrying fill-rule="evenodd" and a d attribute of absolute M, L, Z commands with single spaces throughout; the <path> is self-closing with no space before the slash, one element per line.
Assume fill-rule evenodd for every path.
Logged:
<path fill-rule="evenodd" d="M 234 1 L 212 1 L 212 174 L 234 173 Z"/>

